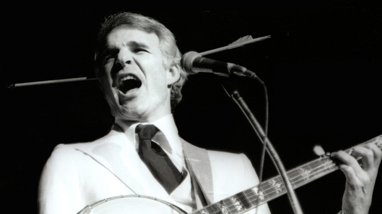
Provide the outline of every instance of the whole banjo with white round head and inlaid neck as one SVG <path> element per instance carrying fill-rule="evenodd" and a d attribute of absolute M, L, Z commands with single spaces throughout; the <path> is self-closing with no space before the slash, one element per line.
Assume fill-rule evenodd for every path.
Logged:
<path fill-rule="evenodd" d="M 382 134 L 362 144 L 373 143 L 382 150 Z M 358 145 L 358 146 L 359 146 Z M 345 150 L 351 153 L 353 148 Z M 361 159 L 357 158 L 358 161 Z M 329 157 L 320 158 L 287 171 L 293 189 L 310 183 L 326 174 L 338 170 Z M 275 176 L 261 184 L 210 204 L 191 214 L 242 214 L 287 193 L 282 177 Z M 167 201 L 146 195 L 120 195 L 106 198 L 86 206 L 77 214 L 187 214 Z"/>

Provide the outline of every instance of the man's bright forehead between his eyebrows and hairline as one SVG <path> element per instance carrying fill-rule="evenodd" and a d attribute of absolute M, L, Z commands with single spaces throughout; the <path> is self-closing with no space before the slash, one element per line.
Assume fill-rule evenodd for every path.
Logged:
<path fill-rule="evenodd" d="M 155 33 L 147 33 L 124 25 L 110 31 L 106 45 L 109 47 L 128 46 L 131 42 L 142 43 L 151 48 L 159 47 L 159 38 Z"/>

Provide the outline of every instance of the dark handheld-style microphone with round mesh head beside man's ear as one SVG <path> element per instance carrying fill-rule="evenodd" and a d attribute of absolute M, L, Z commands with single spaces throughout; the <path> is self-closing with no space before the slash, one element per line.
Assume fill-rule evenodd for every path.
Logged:
<path fill-rule="evenodd" d="M 189 74 L 205 72 L 214 73 L 223 77 L 229 77 L 231 74 L 252 78 L 256 77 L 254 72 L 243 66 L 205 58 L 195 51 L 185 53 L 180 61 L 180 64 Z"/>

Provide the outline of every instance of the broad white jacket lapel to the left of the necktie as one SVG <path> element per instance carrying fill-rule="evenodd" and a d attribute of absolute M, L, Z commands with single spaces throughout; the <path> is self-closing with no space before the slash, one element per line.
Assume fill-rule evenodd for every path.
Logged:
<path fill-rule="evenodd" d="M 168 196 L 118 126 L 113 126 L 106 136 L 95 142 L 78 144 L 76 149 L 113 173 L 134 194 Z"/>

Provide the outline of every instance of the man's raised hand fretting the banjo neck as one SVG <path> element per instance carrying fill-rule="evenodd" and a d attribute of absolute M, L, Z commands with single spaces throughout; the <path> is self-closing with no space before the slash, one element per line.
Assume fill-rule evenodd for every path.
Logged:
<path fill-rule="evenodd" d="M 374 184 L 381 164 L 382 151 L 369 143 L 353 149 L 351 155 L 340 150 L 331 156 L 339 160 L 345 174 L 346 186 L 342 197 L 344 214 L 367 214 L 371 205 Z M 358 164 L 355 157 L 362 157 Z"/>

